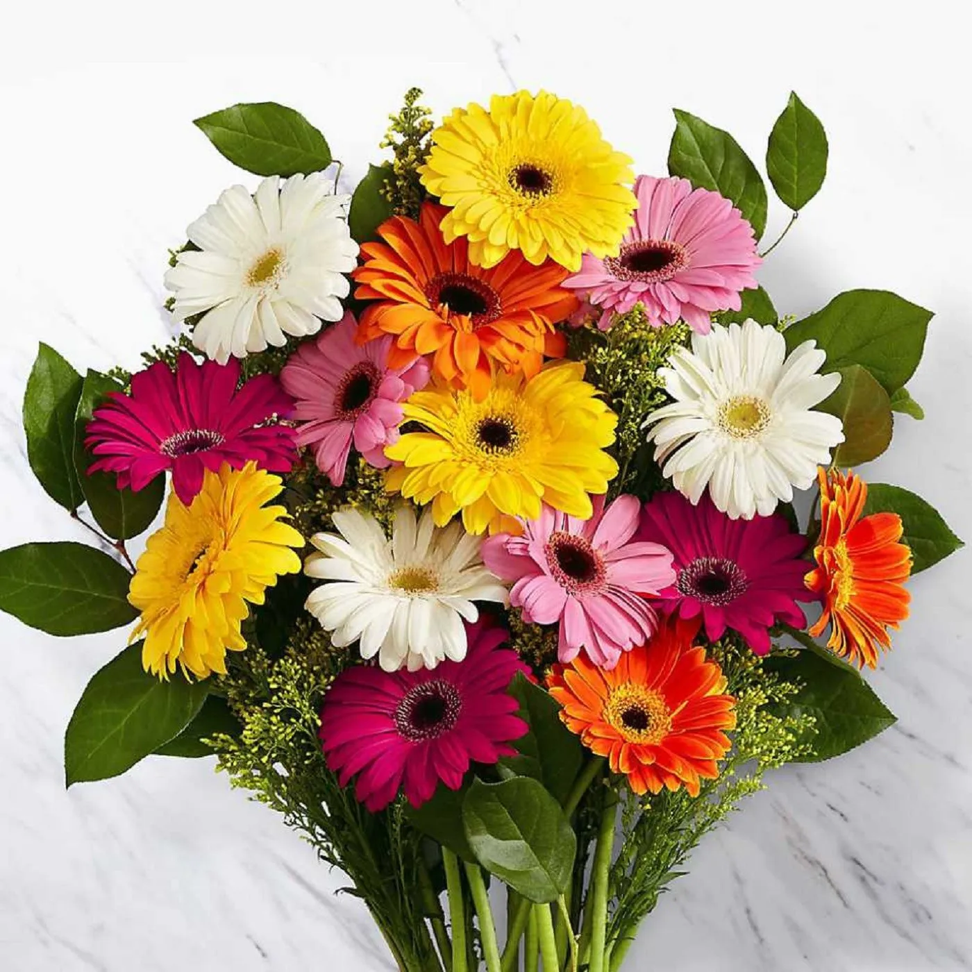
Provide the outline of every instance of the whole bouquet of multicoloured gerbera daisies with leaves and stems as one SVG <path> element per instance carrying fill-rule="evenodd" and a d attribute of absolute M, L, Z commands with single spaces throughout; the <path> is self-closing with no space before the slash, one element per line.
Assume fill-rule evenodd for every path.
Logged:
<path fill-rule="evenodd" d="M 41 345 L 28 457 L 95 542 L 0 553 L 0 607 L 134 622 L 69 785 L 215 753 L 400 969 L 613 972 L 767 770 L 894 720 L 858 670 L 960 544 L 849 468 L 922 417 L 931 315 L 860 290 L 779 317 L 764 182 L 701 119 L 636 177 L 552 94 L 434 127 L 418 93 L 350 197 L 291 109 L 196 121 L 263 178 L 189 226 L 142 367 Z M 792 95 L 787 229 L 826 162 Z"/>

